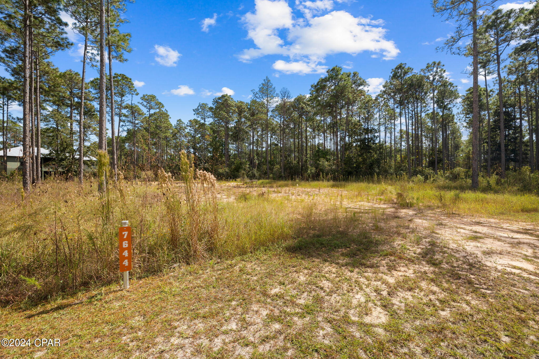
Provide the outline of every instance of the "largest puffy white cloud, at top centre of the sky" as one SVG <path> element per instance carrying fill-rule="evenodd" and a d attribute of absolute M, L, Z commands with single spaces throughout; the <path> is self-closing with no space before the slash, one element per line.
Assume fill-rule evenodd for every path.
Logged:
<path fill-rule="evenodd" d="M 304 17 L 293 17 L 285 0 L 255 0 L 254 12 L 243 17 L 247 37 L 255 47 L 241 52 L 239 59 L 249 62 L 265 55 L 283 55 L 290 61 L 277 61 L 273 68 L 283 68 L 285 73 L 318 73 L 331 54 L 367 51 L 389 60 L 400 52 L 385 38 L 382 20 L 355 17 L 342 10 L 321 15 L 333 9 L 329 0 L 296 1 L 296 6 Z"/>

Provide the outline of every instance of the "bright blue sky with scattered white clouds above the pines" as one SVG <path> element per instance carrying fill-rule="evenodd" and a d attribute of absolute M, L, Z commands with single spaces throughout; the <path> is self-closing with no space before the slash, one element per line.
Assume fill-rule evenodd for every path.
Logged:
<path fill-rule="evenodd" d="M 370 79 L 372 93 L 400 62 L 419 71 L 442 61 L 461 93 L 469 86 L 468 60 L 436 51 L 454 24 L 433 16 L 427 0 L 139 0 L 124 17 L 133 52 L 113 71 L 137 81 L 140 94 L 157 95 L 172 123 L 222 93 L 247 101 L 265 76 L 306 94 L 335 65 Z M 80 72 L 81 39 L 70 36 L 75 46 L 53 61 Z"/>

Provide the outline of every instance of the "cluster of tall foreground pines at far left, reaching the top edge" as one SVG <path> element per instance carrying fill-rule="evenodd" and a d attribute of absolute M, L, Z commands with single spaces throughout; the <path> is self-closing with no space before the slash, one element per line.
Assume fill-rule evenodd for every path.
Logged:
<path fill-rule="evenodd" d="M 113 73 L 113 60 L 125 61 L 123 54 L 130 52 L 129 33 L 121 33 L 119 28 L 126 20 L 121 13 L 126 10 L 129 0 L 2 0 L 0 3 L 0 46 L 2 56 L 0 62 L 10 74 L 11 79 L 2 81 L 3 109 L 3 147 L 6 148 L 9 128 L 9 101 L 22 104 L 22 145 L 23 145 L 23 188 L 28 191 L 32 184 L 41 180 L 40 148 L 42 139 L 42 114 L 45 121 L 54 123 L 55 137 L 59 152 L 61 121 L 65 121 L 62 101 L 69 102 L 70 140 L 78 157 L 78 168 L 83 168 L 86 139 L 93 133 L 85 133 L 85 126 L 92 127 L 94 117 L 93 98 L 85 98 L 88 83 L 86 81 L 87 65 L 99 70 L 98 96 L 98 150 L 107 150 L 107 108 L 112 122 L 112 138 L 114 144 L 114 83 L 109 76 L 109 91 L 106 87 L 106 72 Z M 68 25 L 61 19 L 61 12 L 67 13 L 74 24 L 72 30 L 84 37 L 82 52 L 82 75 L 67 71 L 60 73 L 50 61 L 51 55 L 73 46 L 68 40 L 65 27 Z M 108 66 L 107 66 L 108 65 Z M 75 82 L 76 81 L 76 82 Z M 54 85 L 63 85 L 57 91 Z M 67 94 L 67 95 L 66 95 Z M 78 102 L 74 98 L 78 97 Z M 108 101 L 107 101 L 108 100 Z M 52 104 L 53 106 L 49 106 Z M 56 108 L 54 108 L 56 105 Z M 62 108 L 62 109 L 60 109 Z M 85 111 L 88 110 L 87 113 Z M 3 114 L 4 114 L 3 112 Z M 78 115 L 78 143 L 74 143 L 74 116 Z M 4 125 L 5 124 L 5 125 Z M 50 130 L 50 129 L 49 129 Z M 64 129 L 65 130 L 65 129 Z M 54 132 L 54 130 L 53 130 Z M 45 136 L 44 136 L 45 135 Z M 115 146 L 110 146 L 112 152 Z M 73 149 L 72 159 L 75 157 Z M 5 153 L 5 151 L 4 151 Z M 5 158 L 4 158 L 5 161 Z M 113 167 L 116 169 L 113 156 Z M 83 171 L 78 171 L 82 181 Z M 100 184 L 103 187 L 105 182 Z M 102 189 L 102 188 L 101 188 Z"/>

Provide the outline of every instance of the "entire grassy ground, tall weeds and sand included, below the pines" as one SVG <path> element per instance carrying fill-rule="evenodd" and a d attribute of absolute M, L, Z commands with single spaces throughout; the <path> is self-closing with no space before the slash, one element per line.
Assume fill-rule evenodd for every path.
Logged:
<path fill-rule="evenodd" d="M 534 196 L 196 178 L 189 190 L 163 176 L 106 198 L 95 187 L 48 181 L 23 200 L 0 185 L 0 336 L 61 343 L 0 357 L 539 355 Z M 135 269 L 121 290 L 126 219 Z"/>

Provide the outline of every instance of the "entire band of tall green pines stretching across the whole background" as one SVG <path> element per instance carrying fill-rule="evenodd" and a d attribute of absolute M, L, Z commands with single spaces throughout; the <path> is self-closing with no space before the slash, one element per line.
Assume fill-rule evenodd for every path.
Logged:
<path fill-rule="evenodd" d="M 360 74 L 335 66 L 306 94 L 276 89 L 266 77 L 248 101 L 221 95 L 172 124 L 155 95 L 139 96 L 127 75 L 113 72 L 113 60 L 130 52 L 130 34 L 120 32 L 127 3 L 6 2 L 0 61 L 11 78 L 0 79 L 2 146 L 22 143 L 25 189 L 40 180 L 42 146 L 79 181 L 85 153 L 98 151 L 109 154 L 115 178 L 178 172 L 182 151 L 219 178 L 432 177 L 462 168 L 477 187 L 480 173 L 539 168 L 537 4 L 503 11 L 494 1 L 433 2 L 458 24 L 440 50 L 472 60 L 472 87 L 462 96 L 439 61 L 418 70 L 398 64 L 376 95 Z M 84 37 L 80 73 L 49 61 L 72 46 L 60 11 Z M 86 80 L 88 65 L 98 78 Z M 10 114 L 19 103 L 20 119 Z"/>

